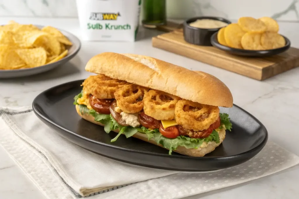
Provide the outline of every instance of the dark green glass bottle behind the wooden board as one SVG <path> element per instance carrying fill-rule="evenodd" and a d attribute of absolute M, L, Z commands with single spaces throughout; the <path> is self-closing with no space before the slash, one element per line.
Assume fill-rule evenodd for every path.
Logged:
<path fill-rule="evenodd" d="M 166 24 L 166 0 L 143 0 L 142 24 L 147 28 L 156 28 Z"/>

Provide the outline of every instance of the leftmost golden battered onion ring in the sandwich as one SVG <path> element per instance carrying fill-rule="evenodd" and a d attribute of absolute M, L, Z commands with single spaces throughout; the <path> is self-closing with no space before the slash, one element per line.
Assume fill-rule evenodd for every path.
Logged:
<path fill-rule="evenodd" d="M 126 84 L 129 83 L 118 79 L 112 79 L 105 75 L 92 75 L 89 76 L 82 85 L 96 98 L 113 99 L 114 92 Z"/>

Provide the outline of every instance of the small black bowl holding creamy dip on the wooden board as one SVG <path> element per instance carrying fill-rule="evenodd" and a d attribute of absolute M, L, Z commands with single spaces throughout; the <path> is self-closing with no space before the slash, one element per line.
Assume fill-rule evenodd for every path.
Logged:
<path fill-rule="evenodd" d="M 211 44 L 211 36 L 218 32 L 219 28 L 197 28 L 192 27 L 189 24 L 196 21 L 197 19 L 213 19 L 218 21 L 223 21 L 227 24 L 231 24 L 231 21 L 222 18 L 222 17 L 209 17 L 209 16 L 202 16 L 202 17 L 194 17 L 187 19 L 184 21 L 183 30 L 184 30 L 184 40 L 191 44 L 201 45 L 201 46 L 212 46 Z"/>

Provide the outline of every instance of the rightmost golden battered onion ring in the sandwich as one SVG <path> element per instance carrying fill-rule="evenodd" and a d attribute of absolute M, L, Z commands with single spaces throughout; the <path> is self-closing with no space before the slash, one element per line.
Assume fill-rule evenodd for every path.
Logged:
<path fill-rule="evenodd" d="M 176 104 L 175 114 L 179 125 L 203 131 L 219 118 L 219 108 L 182 99 Z"/>

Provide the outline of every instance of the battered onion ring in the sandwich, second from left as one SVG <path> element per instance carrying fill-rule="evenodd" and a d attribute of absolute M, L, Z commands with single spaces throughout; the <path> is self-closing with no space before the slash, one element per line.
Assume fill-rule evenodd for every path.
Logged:
<path fill-rule="evenodd" d="M 149 89 L 136 84 L 125 85 L 115 91 L 117 106 L 123 112 L 137 113 L 143 109 L 143 96 Z"/>

